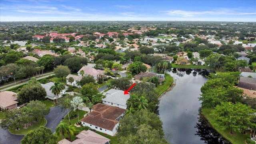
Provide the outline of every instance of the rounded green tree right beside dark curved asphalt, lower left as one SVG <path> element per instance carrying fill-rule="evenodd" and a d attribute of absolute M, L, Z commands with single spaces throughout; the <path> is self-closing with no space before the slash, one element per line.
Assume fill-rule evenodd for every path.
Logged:
<path fill-rule="evenodd" d="M 49 114 L 50 108 L 47 108 L 44 103 L 38 100 L 32 100 L 27 104 L 28 108 L 31 108 L 31 115 L 36 119 L 36 122 L 40 121 L 44 115 Z"/>

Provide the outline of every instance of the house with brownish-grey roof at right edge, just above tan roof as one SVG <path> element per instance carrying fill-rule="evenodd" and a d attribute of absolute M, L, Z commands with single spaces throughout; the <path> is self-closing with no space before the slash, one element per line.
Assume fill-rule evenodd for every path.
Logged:
<path fill-rule="evenodd" d="M 238 87 L 248 90 L 256 90 L 256 78 L 240 77 Z"/>

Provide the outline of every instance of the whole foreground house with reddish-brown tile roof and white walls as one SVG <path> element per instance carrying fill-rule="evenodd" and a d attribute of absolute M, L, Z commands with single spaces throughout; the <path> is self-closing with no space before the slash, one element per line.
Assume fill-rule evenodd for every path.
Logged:
<path fill-rule="evenodd" d="M 87 113 L 87 116 L 80 120 L 82 125 L 89 126 L 91 129 L 98 132 L 114 136 L 119 126 L 119 120 L 123 118 L 126 109 L 98 103 L 92 107 L 92 110 L 94 111 Z"/>

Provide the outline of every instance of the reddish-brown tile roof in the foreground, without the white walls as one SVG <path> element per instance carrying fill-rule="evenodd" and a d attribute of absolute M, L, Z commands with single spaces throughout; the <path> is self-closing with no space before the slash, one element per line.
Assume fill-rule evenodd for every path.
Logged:
<path fill-rule="evenodd" d="M 90 112 L 86 117 L 82 118 L 80 121 L 104 128 L 106 130 L 113 130 L 118 121 L 116 120 L 121 116 L 126 110 L 114 106 L 108 106 L 106 104 L 98 103 L 92 107 L 93 112 Z M 90 114 L 98 115 L 90 116 Z"/>

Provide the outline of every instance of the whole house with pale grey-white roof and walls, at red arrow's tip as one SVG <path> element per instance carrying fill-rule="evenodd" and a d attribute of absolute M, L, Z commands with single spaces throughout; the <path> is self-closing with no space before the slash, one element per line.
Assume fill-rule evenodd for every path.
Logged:
<path fill-rule="evenodd" d="M 124 94 L 123 90 L 110 89 L 106 92 L 106 97 L 102 99 L 102 103 L 109 106 L 117 106 L 126 109 L 126 101 L 130 98 L 130 94 Z"/>

